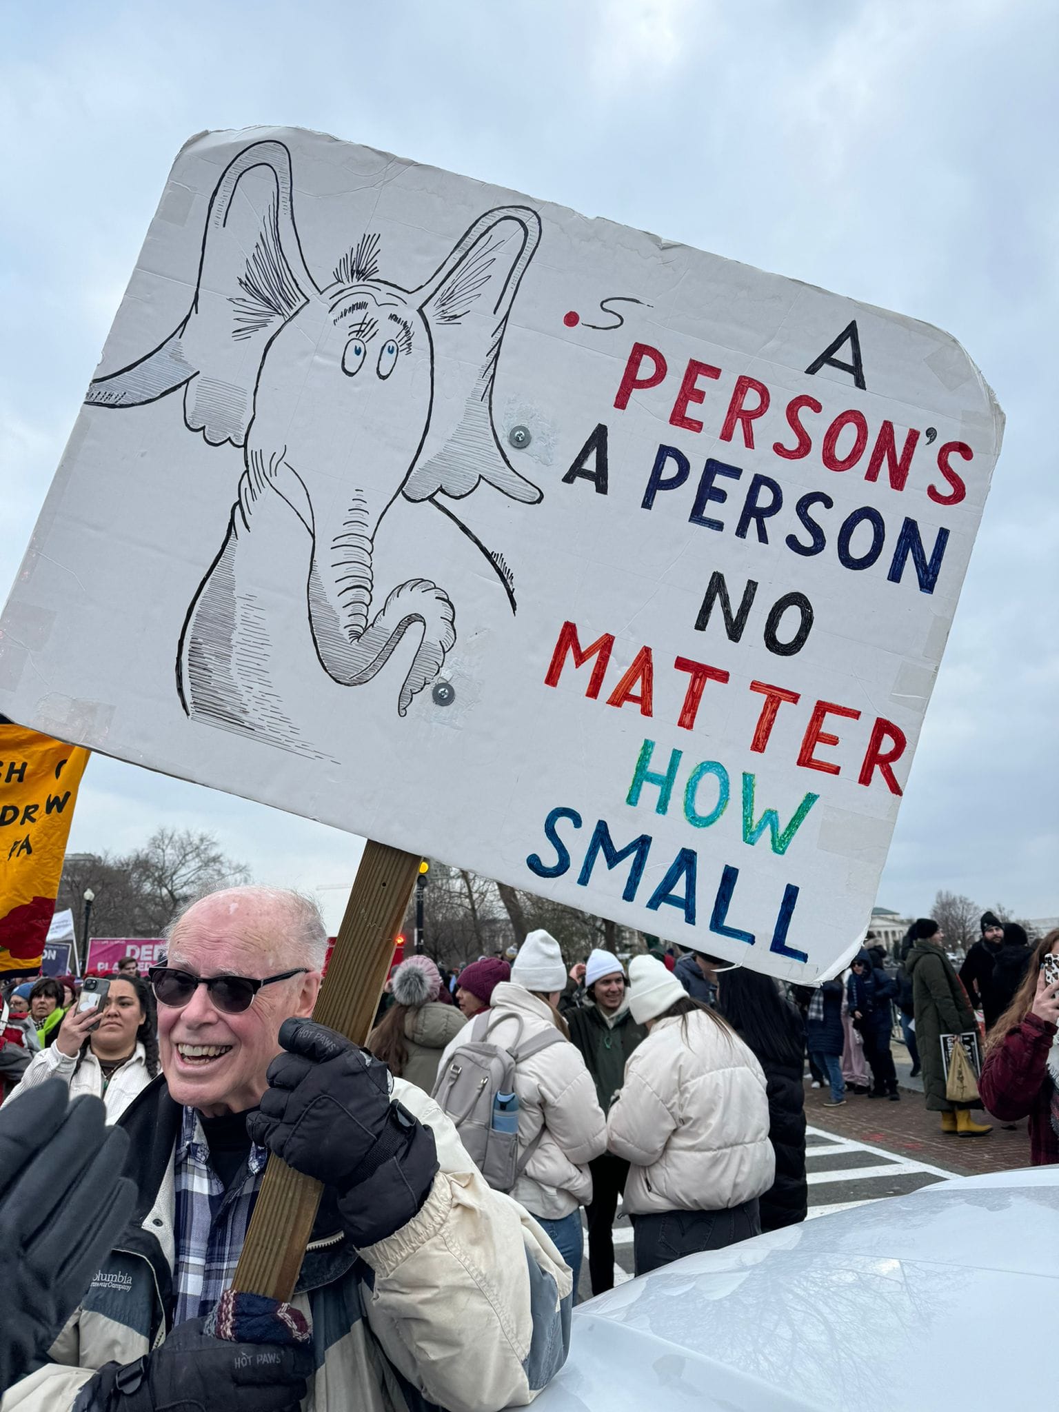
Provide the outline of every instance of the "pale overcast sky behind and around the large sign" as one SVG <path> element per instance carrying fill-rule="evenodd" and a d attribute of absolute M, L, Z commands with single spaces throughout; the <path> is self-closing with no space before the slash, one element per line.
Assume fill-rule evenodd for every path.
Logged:
<path fill-rule="evenodd" d="M 1059 914 L 1051 0 L 0 4 L 0 587 L 193 133 L 318 128 L 953 333 L 1004 450 L 878 901 Z M 144 586 L 150 592 L 150 585 Z M 209 829 L 321 888 L 361 840 L 93 758 L 71 846 Z"/>

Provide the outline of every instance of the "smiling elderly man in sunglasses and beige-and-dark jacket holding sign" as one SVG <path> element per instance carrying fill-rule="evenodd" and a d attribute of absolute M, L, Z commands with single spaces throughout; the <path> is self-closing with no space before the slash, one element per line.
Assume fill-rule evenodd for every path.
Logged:
<path fill-rule="evenodd" d="M 325 949 L 316 908 L 268 888 L 174 923 L 151 971 L 162 1075 L 121 1120 L 136 1214 L 3 1412 L 287 1412 L 306 1392 L 315 1412 L 496 1412 L 562 1365 L 569 1271 L 425 1093 L 308 1018 Z M 308 1350 L 210 1337 L 222 1313 L 206 1332 L 268 1149 L 325 1183 L 275 1320 L 308 1320 Z"/>

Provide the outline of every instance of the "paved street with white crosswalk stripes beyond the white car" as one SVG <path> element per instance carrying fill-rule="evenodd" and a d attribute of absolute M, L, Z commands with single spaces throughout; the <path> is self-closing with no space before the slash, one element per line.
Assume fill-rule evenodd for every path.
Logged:
<path fill-rule="evenodd" d="M 932 1186 L 953 1176 L 976 1172 L 1004 1172 L 1029 1165 L 1029 1138 L 1025 1123 L 1004 1128 L 993 1121 L 984 1138 L 945 1137 L 940 1118 L 923 1107 L 922 1091 L 908 1079 L 909 1065 L 901 1056 L 901 1101 L 850 1097 L 840 1108 L 825 1108 L 826 1090 L 812 1089 L 806 1079 L 806 1175 L 809 1180 L 809 1220 L 832 1211 L 844 1211 L 863 1202 L 887 1196 L 907 1196 L 921 1186 Z M 587 1236 L 582 1267 L 580 1298 L 592 1298 L 587 1268 Z M 633 1275 L 633 1227 L 621 1214 L 614 1223 L 614 1279 Z"/>

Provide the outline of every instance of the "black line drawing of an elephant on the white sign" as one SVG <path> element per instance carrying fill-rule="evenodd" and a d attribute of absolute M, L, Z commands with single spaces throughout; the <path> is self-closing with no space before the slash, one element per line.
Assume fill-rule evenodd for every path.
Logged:
<path fill-rule="evenodd" d="M 489 210 L 424 284 L 402 288 L 380 278 L 378 237 L 364 234 L 318 285 L 294 219 L 288 148 L 260 141 L 227 165 L 186 318 L 151 353 L 96 378 L 86 397 L 120 409 L 184 388 L 185 425 L 210 446 L 243 449 L 223 544 L 181 634 L 176 683 L 188 716 L 313 753 L 273 682 L 282 634 L 270 623 L 267 572 L 280 517 L 305 539 L 305 611 L 328 675 L 363 685 L 411 630 L 421 640 L 398 713 L 435 681 L 456 641 L 453 603 L 412 578 L 378 606 L 376 535 L 398 496 L 443 510 L 438 493 L 462 498 L 484 480 L 524 504 L 541 500 L 493 422 L 504 329 L 539 236 L 534 210 Z M 503 558 L 456 522 L 514 609 Z"/>

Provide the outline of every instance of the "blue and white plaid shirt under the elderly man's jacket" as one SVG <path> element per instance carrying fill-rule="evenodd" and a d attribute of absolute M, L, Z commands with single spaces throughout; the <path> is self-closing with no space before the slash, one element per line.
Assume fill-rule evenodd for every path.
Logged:
<path fill-rule="evenodd" d="M 209 1165 L 209 1147 L 196 1110 L 184 1110 L 174 1171 L 176 1323 L 208 1315 L 232 1284 L 267 1158 L 267 1149 L 254 1144 L 243 1180 L 233 1182 L 226 1192 Z"/>

